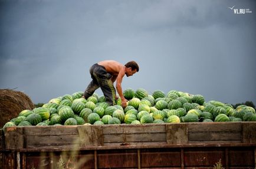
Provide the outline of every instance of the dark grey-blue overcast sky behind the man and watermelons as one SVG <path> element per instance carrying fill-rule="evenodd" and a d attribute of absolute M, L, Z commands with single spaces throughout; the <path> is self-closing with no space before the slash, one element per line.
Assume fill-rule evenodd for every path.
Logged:
<path fill-rule="evenodd" d="M 0 88 L 46 103 L 83 92 L 100 60 L 135 60 L 123 89 L 256 104 L 255 13 L 256 1 L 0 0 Z"/>

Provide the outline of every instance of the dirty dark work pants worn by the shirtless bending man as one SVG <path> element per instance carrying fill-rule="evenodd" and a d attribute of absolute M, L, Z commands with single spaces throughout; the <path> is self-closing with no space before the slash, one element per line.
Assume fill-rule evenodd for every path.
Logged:
<path fill-rule="evenodd" d="M 115 104 L 115 96 L 116 96 L 116 89 L 114 88 L 113 82 L 111 81 L 112 75 L 107 73 L 104 66 L 98 65 L 97 63 L 91 66 L 90 68 L 91 74 L 91 82 L 87 86 L 87 89 L 84 92 L 84 97 L 87 99 L 91 95 L 93 95 L 96 89 L 102 90 L 106 102 L 110 105 Z"/>

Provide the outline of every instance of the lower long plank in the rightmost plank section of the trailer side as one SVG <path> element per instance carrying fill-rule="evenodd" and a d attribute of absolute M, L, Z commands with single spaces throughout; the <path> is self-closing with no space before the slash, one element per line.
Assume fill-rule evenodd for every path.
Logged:
<path fill-rule="evenodd" d="M 188 133 L 188 141 L 231 141 L 236 140 L 241 143 L 241 133 L 211 133 L 211 132 L 204 132 L 204 133 L 195 133 L 189 132 Z"/>

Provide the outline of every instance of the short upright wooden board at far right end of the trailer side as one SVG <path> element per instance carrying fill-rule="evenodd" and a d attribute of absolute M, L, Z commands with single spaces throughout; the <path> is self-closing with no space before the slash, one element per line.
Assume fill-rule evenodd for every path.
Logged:
<path fill-rule="evenodd" d="M 242 123 L 242 142 L 243 143 L 256 143 L 256 122 Z"/>

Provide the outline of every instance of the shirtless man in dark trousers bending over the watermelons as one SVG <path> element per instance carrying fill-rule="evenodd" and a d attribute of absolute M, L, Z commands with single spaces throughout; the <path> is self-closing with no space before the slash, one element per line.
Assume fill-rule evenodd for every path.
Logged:
<path fill-rule="evenodd" d="M 90 84 L 87 86 L 83 97 L 87 99 L 100 87 L 106 98 L 106 102 L 110 105 L 114 105 L 116 104 L 115 100 L 118 98 L 116 96 L 117 90 L 117 93 L 122 100 L 121 106 L 126 107 L 127 100 L 123 96 L 121 83 L 124 75 L 129 77 L 136 72 L 139 72 L 139 66 L 134 61 L 127 62 L 126 65 L 122 65 L 114 60 L 98 62 L 90 68 L 90 74 L 93 80 L 91 80 Z M 116 89 L 113 85 L 115 81 Z"/>

